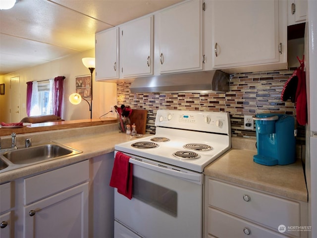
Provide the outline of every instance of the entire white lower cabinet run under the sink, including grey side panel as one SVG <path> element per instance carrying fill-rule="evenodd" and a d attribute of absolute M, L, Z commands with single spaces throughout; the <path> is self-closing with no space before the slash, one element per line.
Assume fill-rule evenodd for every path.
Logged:
<path fill-rule="evenodd" d="M 0 238 L 113 237 L 114 153 L 0 184 Z"/>

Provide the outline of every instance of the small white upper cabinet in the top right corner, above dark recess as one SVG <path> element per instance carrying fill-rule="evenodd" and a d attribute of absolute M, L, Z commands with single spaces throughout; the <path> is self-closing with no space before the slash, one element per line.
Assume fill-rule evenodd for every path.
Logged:
<path fill-rule="evenodd" d="M 307 0 L 287 0 L 287 25 L 306 21 Z"/>

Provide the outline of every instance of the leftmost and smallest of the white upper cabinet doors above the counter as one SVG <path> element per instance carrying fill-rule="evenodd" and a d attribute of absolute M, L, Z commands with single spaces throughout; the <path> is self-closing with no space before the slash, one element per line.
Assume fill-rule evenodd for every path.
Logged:
<path fill-rule="evenodd" d="M 119 28 L 96 34 L 96 81 L 119 78 Z"/>

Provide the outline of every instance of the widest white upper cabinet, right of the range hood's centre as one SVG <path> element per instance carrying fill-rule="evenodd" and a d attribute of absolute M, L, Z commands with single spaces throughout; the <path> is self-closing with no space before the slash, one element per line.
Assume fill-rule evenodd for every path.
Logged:
<path fill-rule="evenodd" d="M 211 0 L 212 65 L 237 72 L 287 67 L 285 1 Z M 266 68 L 265 68 L 266 67 Z M 257 68 L 258 69 L 258 68 Z"/>

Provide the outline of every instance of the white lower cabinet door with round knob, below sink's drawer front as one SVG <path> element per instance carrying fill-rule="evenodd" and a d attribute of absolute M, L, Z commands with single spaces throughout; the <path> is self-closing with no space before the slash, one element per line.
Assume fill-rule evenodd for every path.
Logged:
<path fill-rule="evenodd" d="M 24 207 L 24 238 L 87 238 L 88 182 Z"/>

